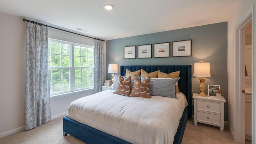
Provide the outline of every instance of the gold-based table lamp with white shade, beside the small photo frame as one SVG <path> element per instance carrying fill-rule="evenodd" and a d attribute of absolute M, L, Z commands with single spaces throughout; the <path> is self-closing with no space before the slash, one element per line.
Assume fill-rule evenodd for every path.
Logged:
<path fill-rule="evenodd" d="M 195 62 L 194 64 L 194 76 L 200 77 L 200 85 L 199 89 L 200 92 L 198 96 L 206 96 L 204 90 L 205 90 L 205 78 L 206 77 L 211 77 L 211 72 L 210 72 L 210 63 L 209 62 Z"/>

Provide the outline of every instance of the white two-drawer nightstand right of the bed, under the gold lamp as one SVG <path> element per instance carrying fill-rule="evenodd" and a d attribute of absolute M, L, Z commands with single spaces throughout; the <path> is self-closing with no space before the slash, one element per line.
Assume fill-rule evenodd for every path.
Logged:
<path fill-rule="evenodd" d="M 226 100 L 214 97 L 198 96 L 193 94 L 194 98 L 194 124 L 197 122 L 210 124 L 220 127 L 220 131 L 224 130 L 224 103 Z"/>

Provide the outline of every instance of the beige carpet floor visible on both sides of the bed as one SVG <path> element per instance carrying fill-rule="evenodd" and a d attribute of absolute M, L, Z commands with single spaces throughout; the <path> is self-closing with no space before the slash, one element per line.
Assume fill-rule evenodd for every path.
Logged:
<path fill-rule="evenodd" d="M 84 144 L 80 140 L 68 135 L 63 136 L 62 118 L 56 118 L 47 124 L 42 124 L 28 131 L 0 138 L 0 144 Z M 236 144 L 228 126 L 224 132 L 220 128 L 198 123 L 194 126 L 193 120 L 188 120 L 182 144 Z"/>

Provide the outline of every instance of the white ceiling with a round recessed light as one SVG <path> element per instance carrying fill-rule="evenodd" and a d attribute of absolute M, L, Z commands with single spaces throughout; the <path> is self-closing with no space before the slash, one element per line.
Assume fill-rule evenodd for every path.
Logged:
<path fill-rule="evenodd" d="M 111 40 L 226 22 L 240 0 L 0 0 L 0 11 Z M 104 4 L 113 4 L 105 10 Z"/>

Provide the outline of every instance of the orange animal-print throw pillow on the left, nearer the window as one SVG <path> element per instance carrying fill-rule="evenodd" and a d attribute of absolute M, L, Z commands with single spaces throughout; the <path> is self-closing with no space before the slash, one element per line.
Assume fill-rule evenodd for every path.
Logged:
<path fill-rule="evenodd" d="M 119 76 L 118 82 L 116 84 L 115 94 L 129 96 L 129 94 L 131 93 L 131 89 L 132 89 L 131 81 L 132 81 L 131 76 L 129 76 L 126 79 L 124 79 L 122 76 Z"/>

